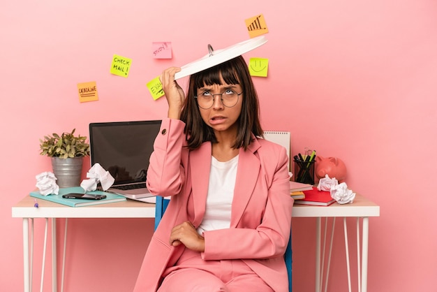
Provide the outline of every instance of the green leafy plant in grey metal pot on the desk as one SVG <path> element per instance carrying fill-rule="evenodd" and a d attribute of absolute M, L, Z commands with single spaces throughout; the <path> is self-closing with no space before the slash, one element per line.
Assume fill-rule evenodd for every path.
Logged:
<path fill-rule="evenodd" d="M 71 133 L 53 133 L 40 139 L 40 154 L 52 159 L 54 176 L 59 187 L 78 187 L 85 156 L 89 156 L 87 137 Z"/>

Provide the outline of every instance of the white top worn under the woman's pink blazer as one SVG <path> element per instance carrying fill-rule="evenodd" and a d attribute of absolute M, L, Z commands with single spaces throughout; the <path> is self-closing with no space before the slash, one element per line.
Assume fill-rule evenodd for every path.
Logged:
<path fill-rule="evenodd" d="M 198 233 L 229 228 L 232 198 L 237 177 L 238 155 L 230 161 L 221 162 L 211 156 L 211 171 L 205 217 Z"/>

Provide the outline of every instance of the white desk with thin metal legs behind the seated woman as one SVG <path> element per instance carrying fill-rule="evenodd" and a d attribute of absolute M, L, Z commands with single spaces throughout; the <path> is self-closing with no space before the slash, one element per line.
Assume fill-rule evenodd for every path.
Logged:
<path fill-rule="evenodd" d="M 34 207 L 34 198 L 24 197 L 12 207 L 12 217 L 23 219 L 23 253 L 24 253 L 24 291 L 29 292 L 31 287 L 31 265 L 29 260 L 29 219 L 45 218 L 46 228 L 48 218 L 52 219 L 52 291 L 57 291 L 57 242 L 56 218 L 153 218 L 155 217 L 154 204 L 147 204 L 135 200 L 125 202 L 92 205 L 87 207 L 67 207 L 47 200 L 38 200 L 39 207 Z M 362 265 L 359 285 L 361 291 L 367 291 L 367 254 L 369 244 L 369 217 L 379 216 L 379 206 L 357 194 L 353 204 L 339 205 L 334 203 L 328 207 L 294 205 L 292 217 L 316 217 L 316 292 L 321 291 L 320 283 L 320 222 L 322 217 L 362 218 Z M 359 221 L 357 220 L 357 228 Z M 33 236 L 33 231 L 31 233 Z M 346 234 L 345 234 L 346 235 Z M 345 236 L 345 238 L 347 238 Z M 347 242 L 346 242 L 347 243 Z M 360 242 L 358 241 L 358 244 Z M 346 245 L 347 247 L 347 245 Z M 347 249 L 346 249 L 347 250 Z M 357 253 L 360 254 L 359 252 Z M 360 261 L 358 261 L 360 265 Z M 359 267 L 360 268 L 360 267 Z M 360 270 L 360 269 L 359 269 Z M 361 279 L 360 279 L 361 278 Z M 349 280 L 350 282 L 350 280 Z"/>

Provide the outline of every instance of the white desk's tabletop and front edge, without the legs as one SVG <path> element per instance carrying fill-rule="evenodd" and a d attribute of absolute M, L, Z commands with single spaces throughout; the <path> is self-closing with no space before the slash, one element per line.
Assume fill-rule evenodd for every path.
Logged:
<path fill-rule="evenodd" d="M 25 196 L 12 207 L 12 217 L 18 218 L 154 218 L 155 205 L 126 200 L 86 207 L 68 207 L 38 199 L 39 207 L 34 207 L 31 196 Z M 292 217 L 378 217 L 379 206 L 364 196 L 357 194 L 352 204 L 334 203 L 325 206 L 295 204 Z"/>

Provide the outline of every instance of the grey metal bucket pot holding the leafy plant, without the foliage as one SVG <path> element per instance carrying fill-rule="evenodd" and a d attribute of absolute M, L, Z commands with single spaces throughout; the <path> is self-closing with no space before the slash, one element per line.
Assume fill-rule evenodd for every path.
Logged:
<path fill-rule="evenodd" d="M 60 188 L 79 187 L 82 177 L 83 157 L 59 158 L 52 157 L 52 168 Z"/>

